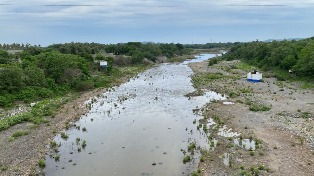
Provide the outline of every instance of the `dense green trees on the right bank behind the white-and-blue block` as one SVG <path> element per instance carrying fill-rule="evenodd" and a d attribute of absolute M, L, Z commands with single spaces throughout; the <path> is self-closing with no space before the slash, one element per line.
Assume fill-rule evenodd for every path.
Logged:
<path fill-rule="evenodd" d="M 303 40 L 240 43 L 221 56 L 226 60 L 242 60 L 262 68 L 295 70 L 303 76 L 314 76 L 314 37 Z"/>

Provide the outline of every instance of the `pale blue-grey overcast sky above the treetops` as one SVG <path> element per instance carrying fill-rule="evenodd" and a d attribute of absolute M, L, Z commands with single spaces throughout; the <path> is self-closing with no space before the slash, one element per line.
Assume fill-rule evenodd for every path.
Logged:
<path fill-rule="evenodd" d="M 282 5 L 313 0 L 0 0 L 0 4 Z M 0 5 L 0 43 L 151 41 L 205 44 L 314 36 L 314 6 L 69 7 Z"/>

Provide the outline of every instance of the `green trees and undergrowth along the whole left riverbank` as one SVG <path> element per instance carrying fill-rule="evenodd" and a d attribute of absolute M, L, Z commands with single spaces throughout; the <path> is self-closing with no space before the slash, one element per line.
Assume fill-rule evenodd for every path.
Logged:
<path fill-rule="evenodd" d="M 24 50 L 10 54 L 1 49 Z M 4 118 L 0 121 L 0 131 L 20 122 L 46 123 L 44 116 L 54 117 L 57 108 L 79 98 L 80 92 L 117 85 L 122 76 L 132 77 L 146 69 L 149 65 L 143 64 L 144 57 L 154 61 L 158 55 L 172 58 L 175 54 L 186 54 L 191 50 L 173 43 L 106 45 L 72 42 L 47 47 L 3 44 L 0 47 L 0 107 L 13 108 L 16 101 L 31 103 L 47 98 L 64 98 L 62 101 L 41 101 L 40 107 L 35 106 L 26 113 Z M 101 54 L 95 55 L 95 58 L 92 56 L 102 52 L 124 55 L 116 58 Z M 21 62 L 13 62 L 13 59 Z M 101 69 L 95 60 L 106 60 L 107 67 Z M 67 96 L 69 94 L 71 96 Z"/>

